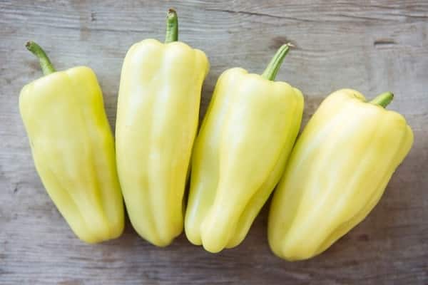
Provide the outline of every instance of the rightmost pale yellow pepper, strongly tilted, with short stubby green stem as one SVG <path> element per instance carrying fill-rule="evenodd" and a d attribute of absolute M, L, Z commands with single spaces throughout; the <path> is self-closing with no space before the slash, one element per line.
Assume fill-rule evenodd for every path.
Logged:
<path fill-rule="evenodd" d="M 392 93 L 367 102 L 350 89 L 328 96 L 290 155 L 270 207 L 268 239 L 283 259 L 309 259 L 360 223 L 412 147 Z"/>

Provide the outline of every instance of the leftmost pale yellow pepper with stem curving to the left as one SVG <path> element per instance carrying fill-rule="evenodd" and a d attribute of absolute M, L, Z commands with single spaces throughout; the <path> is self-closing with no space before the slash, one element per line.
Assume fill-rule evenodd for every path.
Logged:
<path fill-rule="evenodd" d="M 79 239 L 95 243 L 119 237 L 123 200 L 96 76 L 84 66 L 55 72 L 36 43 L 27 48 L 39 56 L 45 73 L 19 96 L 41 181 Z"/>

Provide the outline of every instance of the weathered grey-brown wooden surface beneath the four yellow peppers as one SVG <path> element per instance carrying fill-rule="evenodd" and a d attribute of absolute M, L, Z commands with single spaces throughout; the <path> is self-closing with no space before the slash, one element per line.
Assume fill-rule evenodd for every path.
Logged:
<path fill-rule="evenodd" d="M 123 56 L 143 38 L 163 40 L 171 6 L 180 40 L 210 59 L 201 116 L 222 71 L 261 73 L 288 41 L 296 48 L 277 79 L 305 94 L 304 123 L 338 88 L 396 94 L 389 108 L 412 126 L 412 151 L 370 217 L 324 254 L 295 263 L 273 256 L 266 207 L 245 242 L 220 254 L 183 235 L 158 249 L 130 224 L 119 239 L 87 245 L 46 195 L 18 112 L 21 87 L 41 76 L 24 43 L 40 43 L 60 70 L 93 68 L 114 125 Z M 427 1 L 1 0 L 0 284 L 428 284 L 427 34 Z"/>

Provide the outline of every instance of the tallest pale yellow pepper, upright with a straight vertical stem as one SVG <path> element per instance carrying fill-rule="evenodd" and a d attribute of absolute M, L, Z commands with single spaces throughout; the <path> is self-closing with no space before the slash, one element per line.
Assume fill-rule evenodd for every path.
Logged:
<path fill-rule="evenodd" d="M 165 43 L 134 44 L 123 62 L 116 121 L 118 174 L 129 218 L 159 247 L 183 232 L 183 194 L 208 73 L 203 51 L 177 41 L 170 10 Z"/>

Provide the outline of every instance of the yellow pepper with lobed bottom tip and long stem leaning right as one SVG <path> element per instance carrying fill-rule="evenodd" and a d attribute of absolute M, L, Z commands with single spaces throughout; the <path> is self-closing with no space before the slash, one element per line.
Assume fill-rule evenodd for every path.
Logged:
<path fill-rule="evenodd" d="M 289 46 L 262 76 L 225 71 L 195 141 L 185 234 L 208 252 L 243 241 L 280 179 L 300 128 L 303 96 L 273 82 Z"/>

